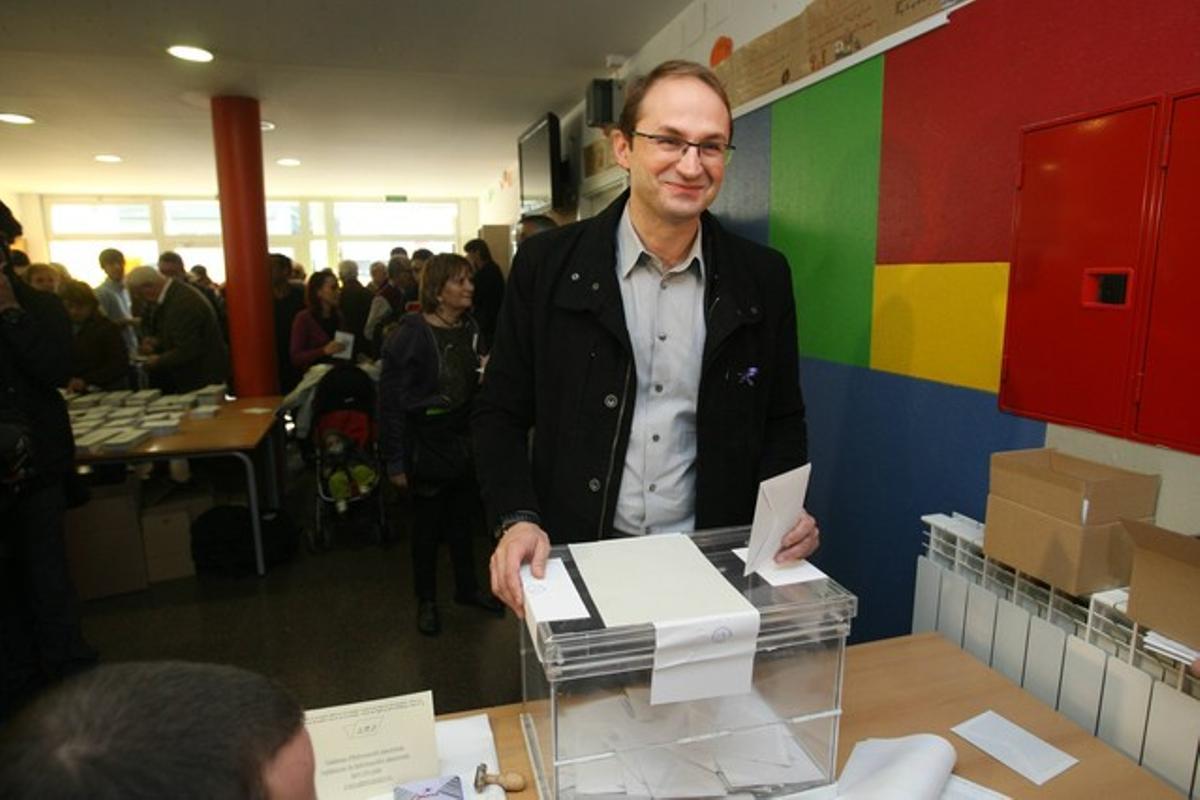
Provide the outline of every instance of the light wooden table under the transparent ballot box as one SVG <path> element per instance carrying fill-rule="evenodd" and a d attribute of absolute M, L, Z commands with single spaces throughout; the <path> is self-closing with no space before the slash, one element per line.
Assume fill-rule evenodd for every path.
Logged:
<path fill-rule="evenodd" d="M 1079 764 L 1038 787 L 950 733 L 953 726 L 989 709 L 1070 753 Z M 517 770 L 529 781 L 524 792 L 509 798 L 536 798 L 521 733 L 521 704 L 498 705 L 487 709 L 487 714 L 502 768 Z M 839 772 L 854 742 L 913 733 L 944 738 L 958 752 L 955 775 L 1012 798 L 1180 796 L 1166 783 L 936 633 L 848 648 Z"/>

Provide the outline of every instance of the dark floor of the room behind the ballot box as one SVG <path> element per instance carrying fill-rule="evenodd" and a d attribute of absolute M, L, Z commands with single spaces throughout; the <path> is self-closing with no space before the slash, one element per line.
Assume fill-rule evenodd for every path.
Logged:
<path fill-rule="evenodd" d="M 286 506 L 311 525 L 312 470 L 292 459 L 289 474 Z M 197 480 L 223 479 L 218 467 Z M 332 549 L 313 554 L 301 548 L 264 578 L 204 575 L 90 601 L 83 608 L 84 631 L 103 661 L 233 663 L 274 676 L 306 708 L 426 688 L 433 690 L 439 714 L 520 700 L 516 618 L 496 619 L 454 604 L 443 551 L 443 632 L 419 634 L 407 509 L 391 504 L 389 516 L 394 543 L 370 545 L 344 531 Z M 481 581 L 488 552 L 481 534 Z"/>

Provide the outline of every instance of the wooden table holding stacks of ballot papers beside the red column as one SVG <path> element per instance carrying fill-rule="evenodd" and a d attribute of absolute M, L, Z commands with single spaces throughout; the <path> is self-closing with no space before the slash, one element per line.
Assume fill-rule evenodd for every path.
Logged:
<path fill-rule="evenodd" d="M 280 396 L 242 397 L 220 407 L 216 416 L 193 420 L 184 416 L 179 431 L 164 437 L 151 437 L 124 452 L 98 452 L 76 456 L 77 464 L 112 464 L 162 461 L 166 458 L 233 457 L 246 470 L 246 497 L 250 504 L 250 524 L 254 536 L 254 561 L 258 575 L 266 575 L 263 559 L 263 523 L 259 515 L 258 476 L 253 455 L 276 426 L 275 413 L 283 401 Z M 280 505 L 277 452 L 275 443 L 264 447 L 266 465 L 266 495 L 274 506 Z"/>

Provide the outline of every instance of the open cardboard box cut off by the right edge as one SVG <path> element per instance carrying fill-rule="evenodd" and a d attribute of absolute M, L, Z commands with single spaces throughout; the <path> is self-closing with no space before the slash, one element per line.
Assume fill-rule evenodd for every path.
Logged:
<path fill-rule="evenodd" d="M 1134 548 L 1129 616 L 1200 648 L 1200 537 L 1145 522 L 1122 522 Z"/>

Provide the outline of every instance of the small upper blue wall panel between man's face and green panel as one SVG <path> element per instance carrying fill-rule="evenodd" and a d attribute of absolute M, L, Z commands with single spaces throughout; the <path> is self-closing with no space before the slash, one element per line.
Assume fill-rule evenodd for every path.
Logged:
<path fill-rule="evenodd" d="M 766 245 L 770 229 L 769 106 L 734 121 L 733 144 L 737 150 L 710 210 L 733 233 Z"/>

